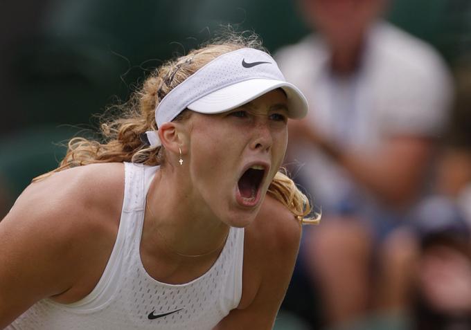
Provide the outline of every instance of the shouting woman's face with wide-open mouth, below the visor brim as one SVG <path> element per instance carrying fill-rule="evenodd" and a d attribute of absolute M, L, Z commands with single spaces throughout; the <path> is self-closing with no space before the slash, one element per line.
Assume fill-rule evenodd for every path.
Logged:
<path fill-rule="evenodd" d="M 225 113 L 193 113 L 188 125 L 195 194 L 224 223 L 247 226 L 285 156 L 285 93 L 274 90 Z"/>

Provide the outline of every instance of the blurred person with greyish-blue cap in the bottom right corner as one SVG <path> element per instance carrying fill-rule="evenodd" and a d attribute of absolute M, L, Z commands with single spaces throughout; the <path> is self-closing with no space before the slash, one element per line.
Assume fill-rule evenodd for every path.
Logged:
<path fill-rule="evenodd" d="M 470 228 L 459 205 L 446 197 L 420 206 L 413 277 L 416 329 L 471 329 Z"/>

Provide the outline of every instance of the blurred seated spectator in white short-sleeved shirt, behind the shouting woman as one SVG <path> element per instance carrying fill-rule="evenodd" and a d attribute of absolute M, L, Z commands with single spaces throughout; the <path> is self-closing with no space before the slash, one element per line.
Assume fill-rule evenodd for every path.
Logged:
<path fill-rule="evenodd" d="M 442 59 L 380 19 L 386 2 L 300 0 L 318 33 L 276 54 L 311 105 L 289 163 L 323 212 L 301 252 L 328 325 L 368 309 L 371 253 L 423 194 L 451 101 Z"/>

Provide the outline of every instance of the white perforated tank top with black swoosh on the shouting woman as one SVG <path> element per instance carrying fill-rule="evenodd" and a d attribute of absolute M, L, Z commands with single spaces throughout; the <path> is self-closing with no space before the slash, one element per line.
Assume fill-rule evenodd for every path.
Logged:
<path fill-rule="evenodd" d="M 242 295 L 243 228 L 230 228 L 216 262 L 191 282 L 166 284 L 145 271 L 139 246 L 145 195 L 157 169 L 125 163 L 118 235 L 94 290 L 73 304 L 41 300 L 6 329 L 208 330 L 238 306 Z"/>

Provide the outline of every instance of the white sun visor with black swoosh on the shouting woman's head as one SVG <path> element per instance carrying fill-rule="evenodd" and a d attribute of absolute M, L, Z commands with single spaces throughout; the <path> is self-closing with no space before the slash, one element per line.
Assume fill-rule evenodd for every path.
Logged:
<path fill-rule="evenodd" d="M 286 82 L 275 60 L 263 51 L 242 48 L 213 59 L 181 82 L 155 109 L 157 127 L 175 119 L 185 109 L 199 113 L 222 113 L 241 106 L 274 89 L 287 95 L 289 118 L 303 118 L 308 102 L 303 93 Z M 158 145 L 157 132 L 148 132 L 151 145 Z"/>

